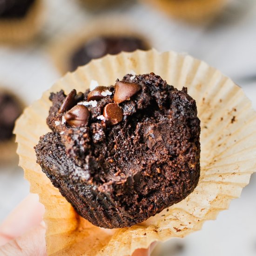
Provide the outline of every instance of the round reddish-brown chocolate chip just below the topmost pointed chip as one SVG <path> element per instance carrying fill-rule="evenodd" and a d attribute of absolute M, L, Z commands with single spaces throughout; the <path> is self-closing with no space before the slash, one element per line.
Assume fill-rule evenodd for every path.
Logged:
<path fill-rule="evenodd" d="M 115 103 L 109 103 L 105 106 L 103 110 L 103 115 L 107 121 L 107 123 L 111 125 L 115 125 L 122 121 L 123 119 L 123 111 L 122 109 Z"/>

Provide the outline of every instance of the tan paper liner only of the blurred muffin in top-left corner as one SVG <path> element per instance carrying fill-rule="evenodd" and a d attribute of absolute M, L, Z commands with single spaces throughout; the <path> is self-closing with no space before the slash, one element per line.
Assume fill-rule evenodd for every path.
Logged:
<path fill-rule="evenodd" d="M 43 0 L 35 0 L 24 17 L 1 18 L 0 43 L 17 45 L 32 40 L 39 32 L 43 20 Z"/>

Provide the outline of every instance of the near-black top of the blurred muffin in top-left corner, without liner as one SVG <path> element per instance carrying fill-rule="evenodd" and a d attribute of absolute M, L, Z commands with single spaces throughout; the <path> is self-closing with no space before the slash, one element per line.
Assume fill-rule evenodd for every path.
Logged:
<path fill-rule="evenodd" d="M 0 19 L 24 17 L 35 0 L 0 0 Z"/>

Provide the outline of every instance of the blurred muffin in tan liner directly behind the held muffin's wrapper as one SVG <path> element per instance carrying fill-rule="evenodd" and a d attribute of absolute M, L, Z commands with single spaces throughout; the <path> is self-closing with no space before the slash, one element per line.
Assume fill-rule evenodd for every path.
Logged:
<path fill-rule="evenodd" d="M 56 40 L 50 47 L 50 54 L 61 74 L 65 74 L 106 54 L 148 50 L 150 47 L 148 39 L 136 31 L 134 25 L 128 26 L 123 18 L 111 17 L 91 22 L 76 33 Z"/>

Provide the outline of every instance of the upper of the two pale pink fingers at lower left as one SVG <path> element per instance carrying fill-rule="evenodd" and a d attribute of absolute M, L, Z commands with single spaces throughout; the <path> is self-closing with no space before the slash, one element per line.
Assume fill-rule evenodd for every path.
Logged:
<path fill-rule="evenodd" d="M 27 195 L 0 225 L 0 246 L 39 225 L 44 211 L 38 195 Z"/>

